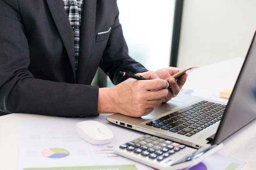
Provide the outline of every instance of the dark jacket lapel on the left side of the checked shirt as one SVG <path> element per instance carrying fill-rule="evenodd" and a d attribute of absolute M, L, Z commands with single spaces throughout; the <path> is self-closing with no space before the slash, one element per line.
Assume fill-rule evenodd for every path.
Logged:
<path fill-rule="evenodd" d="M 85 0 L 87 1 L 87 0 Z M 74 52 L 74 32 L 67 17 L 67 13 L 63 7 L 61 0 L 46 0 L 49 10 L 52 13 L 52 18 L 56 24 L 58 32 L 61 35 L 63 44 L 67 50 L 67 55 L 70 59 L 73 74 L 75 77 L 75 52 Z"/>

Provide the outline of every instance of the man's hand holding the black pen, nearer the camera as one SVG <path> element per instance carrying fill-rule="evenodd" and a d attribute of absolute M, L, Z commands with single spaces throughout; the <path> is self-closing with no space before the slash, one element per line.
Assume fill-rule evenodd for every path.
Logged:
<path fill-rule="evenodd" d="M 129 78 L 111 88 L 99 88 L 98 113 L 121 113 L 141 117 L 162 104 L 169 94 L 168 82 L 155 72 L 138 73 L 149 80 Z"/>

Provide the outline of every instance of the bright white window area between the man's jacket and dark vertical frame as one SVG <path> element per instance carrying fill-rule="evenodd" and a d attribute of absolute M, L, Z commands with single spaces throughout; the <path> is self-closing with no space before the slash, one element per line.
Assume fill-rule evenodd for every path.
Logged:
<path fill-rule="evenodd" d="M 174 0 L 117 0 L 129 55 L 148 70 L 168 67 Z"/>

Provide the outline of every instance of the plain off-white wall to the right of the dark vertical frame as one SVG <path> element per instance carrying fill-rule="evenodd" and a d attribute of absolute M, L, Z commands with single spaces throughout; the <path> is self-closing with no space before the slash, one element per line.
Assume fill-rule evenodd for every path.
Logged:
<path fill-rule="evenodd" d="M 245 57 L 256 30 L 256 0 L 184 0 L 177 66 Z"/>

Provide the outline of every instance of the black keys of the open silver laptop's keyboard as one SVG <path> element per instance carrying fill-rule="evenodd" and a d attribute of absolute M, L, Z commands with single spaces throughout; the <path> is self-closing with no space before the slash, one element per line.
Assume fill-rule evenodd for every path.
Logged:
<path fill-rule="evenodd" d="M 190 137 L 220 121 L 225 107 L 223 104 L 202 100 L 146 125 Z"/>

